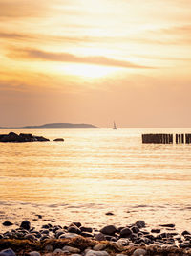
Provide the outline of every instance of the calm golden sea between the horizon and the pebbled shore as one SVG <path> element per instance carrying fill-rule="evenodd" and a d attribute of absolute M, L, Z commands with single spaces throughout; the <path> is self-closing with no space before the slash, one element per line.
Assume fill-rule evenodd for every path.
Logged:
<path fill-rule="evenodd" d="M 11 221 L 191 231 L 191 145 L 142 144 L 142 133 L 191 128 L 25 129 L 50 142 L 0 144 L 0 232 Z M 54 142 L 64 138 L 64 142 Z M 12 228 L 12 226 L 11 226 Z"/>

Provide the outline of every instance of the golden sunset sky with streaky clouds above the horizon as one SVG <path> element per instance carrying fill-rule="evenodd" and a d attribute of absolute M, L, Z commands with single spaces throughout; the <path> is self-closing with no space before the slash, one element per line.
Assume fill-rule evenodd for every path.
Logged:
<path fill-rule="evenodd" d="M 191 128 L 190 0 L 0 0 L 0 127 Z"/>

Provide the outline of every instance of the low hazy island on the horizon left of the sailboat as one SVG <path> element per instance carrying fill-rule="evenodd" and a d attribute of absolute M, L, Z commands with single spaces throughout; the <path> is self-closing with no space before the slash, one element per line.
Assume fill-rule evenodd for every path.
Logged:
<path fill-rule="evenodd" d="M 0 129 L 31 129 L 31 128 L 98 128 L 90 124 L 71 124 L 71 123 L 50 123 L 41 126 L 27 126 L 27 127 L 0 127 Z"/>

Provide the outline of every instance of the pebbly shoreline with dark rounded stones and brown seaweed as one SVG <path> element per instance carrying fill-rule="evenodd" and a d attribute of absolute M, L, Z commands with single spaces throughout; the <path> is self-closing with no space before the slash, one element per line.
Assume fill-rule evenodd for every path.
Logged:
<path fill-rule="evenodd" d="M 6 221 L 4 225 L 11 227 L 12 223 Z M 18 228 L 0 234 L 0 249 L 8 248 L 16 255 L 27 255 L 33 250 L 38 251 L 39 255 L 134 255 L 138 249 L 145 251 L 146 254 L 142 255 L 191 255 L 191 233 L 189 230 L 178 233 L 173 223 L 155 229 L 141 220 L 102 228 L 85 226 L 80 222 L 65 226 L 48 223 L 42 225 L 39 231 L 30 221 L 22 221 Z M 93 251 L 92 254 L 87 249 Z M 55 250 L 61 254 L 56 254 Z M 21 251 L 25 254 L 21 254 Z M 102 254 L 97 254 L 97 251 Z"/>

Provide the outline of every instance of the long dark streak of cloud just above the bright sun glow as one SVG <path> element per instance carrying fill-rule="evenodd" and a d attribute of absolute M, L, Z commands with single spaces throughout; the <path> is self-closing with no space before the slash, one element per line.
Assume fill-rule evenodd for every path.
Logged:
<path fill-rule="evenodd" d="M 93 64 L 102 66 L 122 67 L 122 68 L 152 68 L 135 64 L 130 61 L 107 58 L 103 56 L 78 57 L 69 53 L 53 53 L 35 49 L 15 49 L 8 57 L 10 58 L 27 58 L 36 60 L 74 62 L 82 64 Z"/>

